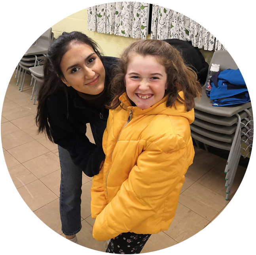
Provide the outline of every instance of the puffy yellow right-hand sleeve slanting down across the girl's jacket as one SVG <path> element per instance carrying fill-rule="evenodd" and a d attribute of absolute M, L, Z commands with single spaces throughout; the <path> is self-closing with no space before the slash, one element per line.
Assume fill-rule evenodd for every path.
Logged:
<path fill-rule="evenodd" d="M 96 240 L 131 232 L 154 215 L 188 169 L 186 143 L 178 135 L 165 136 L 143 151 L 117 195 L 97 216 Z"/>

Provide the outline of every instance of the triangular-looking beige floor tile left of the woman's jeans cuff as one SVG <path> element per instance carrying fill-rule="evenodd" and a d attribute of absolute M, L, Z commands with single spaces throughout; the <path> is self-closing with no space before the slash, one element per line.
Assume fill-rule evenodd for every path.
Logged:
<path fill-rule="evenodd" d="M 33 213 L 53 232 L 59 235 L 62 234 L 61 217 L 59 211 L 59 198 L 39 208 Z"/>

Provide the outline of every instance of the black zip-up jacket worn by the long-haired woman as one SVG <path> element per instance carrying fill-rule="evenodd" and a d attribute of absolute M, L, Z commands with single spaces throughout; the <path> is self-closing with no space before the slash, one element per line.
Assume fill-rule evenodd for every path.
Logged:
<path fill-rule="evenodd" d="M 111 66 L 116 60 L 114 57 L 103 57 L 103 65 L 109 81 Z M 66 149 L 74 164 L 87 176 L 98 174 L 99 166 L 105 159 L 102 150 L 102 136 L 108 119 L 108 110 L 105 106 L 100 110 L 91 108 L 75 89 L 68 87 L 68 97 L 60 90 L 47 98 L 47 113 L 55 144 Z M 95 144 L 85 136 L 87 123 L 90 123 Z"/>

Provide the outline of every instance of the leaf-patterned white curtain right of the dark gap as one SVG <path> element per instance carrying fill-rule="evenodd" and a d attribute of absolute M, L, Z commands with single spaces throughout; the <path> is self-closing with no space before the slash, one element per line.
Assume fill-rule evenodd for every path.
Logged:
<path fill-rule="evenodd" d="M 225 50 L 214 34 L 186 15 L 156 4 L 152 5 L 152 39 L 180 39 L 191 41 L 199 49 Z"/>

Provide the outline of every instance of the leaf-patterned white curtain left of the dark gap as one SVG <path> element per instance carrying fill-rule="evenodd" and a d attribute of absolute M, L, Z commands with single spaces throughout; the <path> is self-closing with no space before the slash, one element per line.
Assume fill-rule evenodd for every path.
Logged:
<path fill-rule="evenodd" d="M 87 8 L 88 30 L 146 39 L 149 6 L 144 2 L 110 2 Z"/>

